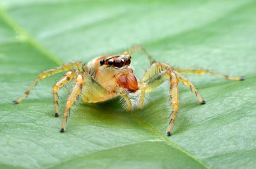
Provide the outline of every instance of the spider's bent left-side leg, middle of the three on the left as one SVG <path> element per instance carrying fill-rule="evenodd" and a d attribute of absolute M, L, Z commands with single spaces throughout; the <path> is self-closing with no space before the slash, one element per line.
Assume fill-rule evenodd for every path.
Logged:
<path fill-rule="evenodd" d="M 56 84 L 53 85 L 53 99 L 54 99 L 54 108 L 55 108 L 55 117 L 59 116 L 59 108 L 58 108 L 58 95 L 57 92 L 61 89 L 65 84 L 70 82 L 73 78 L 76 78 L 78 70 L 71 70 L 67 72 L 62 79 L 60 79 Z"/>

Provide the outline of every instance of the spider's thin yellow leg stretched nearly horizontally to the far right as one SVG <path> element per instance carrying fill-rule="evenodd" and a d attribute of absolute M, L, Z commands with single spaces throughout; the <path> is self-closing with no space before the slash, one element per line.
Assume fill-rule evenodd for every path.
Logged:
<path fill-rule="evenodd" d="M 228 75 L 222 75 L 220 73 L 214 73 L 206 69 L 180 69 L 180 68 L 173 68 L 173 70 L 176 70 L 178 73 L 187 73 L 187 74 L 195 74 L 195 75 L 216 75 L 223 77 L 228 80 L 245 80 L 245 77 L 229 77 Z"/>

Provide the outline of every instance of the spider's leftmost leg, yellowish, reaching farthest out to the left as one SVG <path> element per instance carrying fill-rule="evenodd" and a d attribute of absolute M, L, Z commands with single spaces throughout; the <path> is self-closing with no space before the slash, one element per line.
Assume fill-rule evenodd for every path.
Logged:
<path fill-rule="evenodd" d="M 37 79 L 30 86 L 30 88 L 25 92 L 25 94 L 23 94 L 23 96 L 19 97 L 16 101 L 13 101 L 13 104 L 19 104 L 26 96 L 28 96 L 31 89 L 33 89 L 33 87 L 35 87 L 37 82 L 39 82 L 41 79 L 44 79 L 46 77 L 49 77 L 50 75 L 54 75 L 56 73 L 60 73 L 60 72 L 65 71 L 65 70 L 71 70 L 72 68 L 77 68 L 79 71 L 82 72 L 83 71 L 83 63 L 81 63 L 81 62 L 66 63 L 64 65 L 61 65 L 61 66 L 57 67 L 57 68 L 53 68 L 53 69 L 41 72 L 38 75 Z"/>

